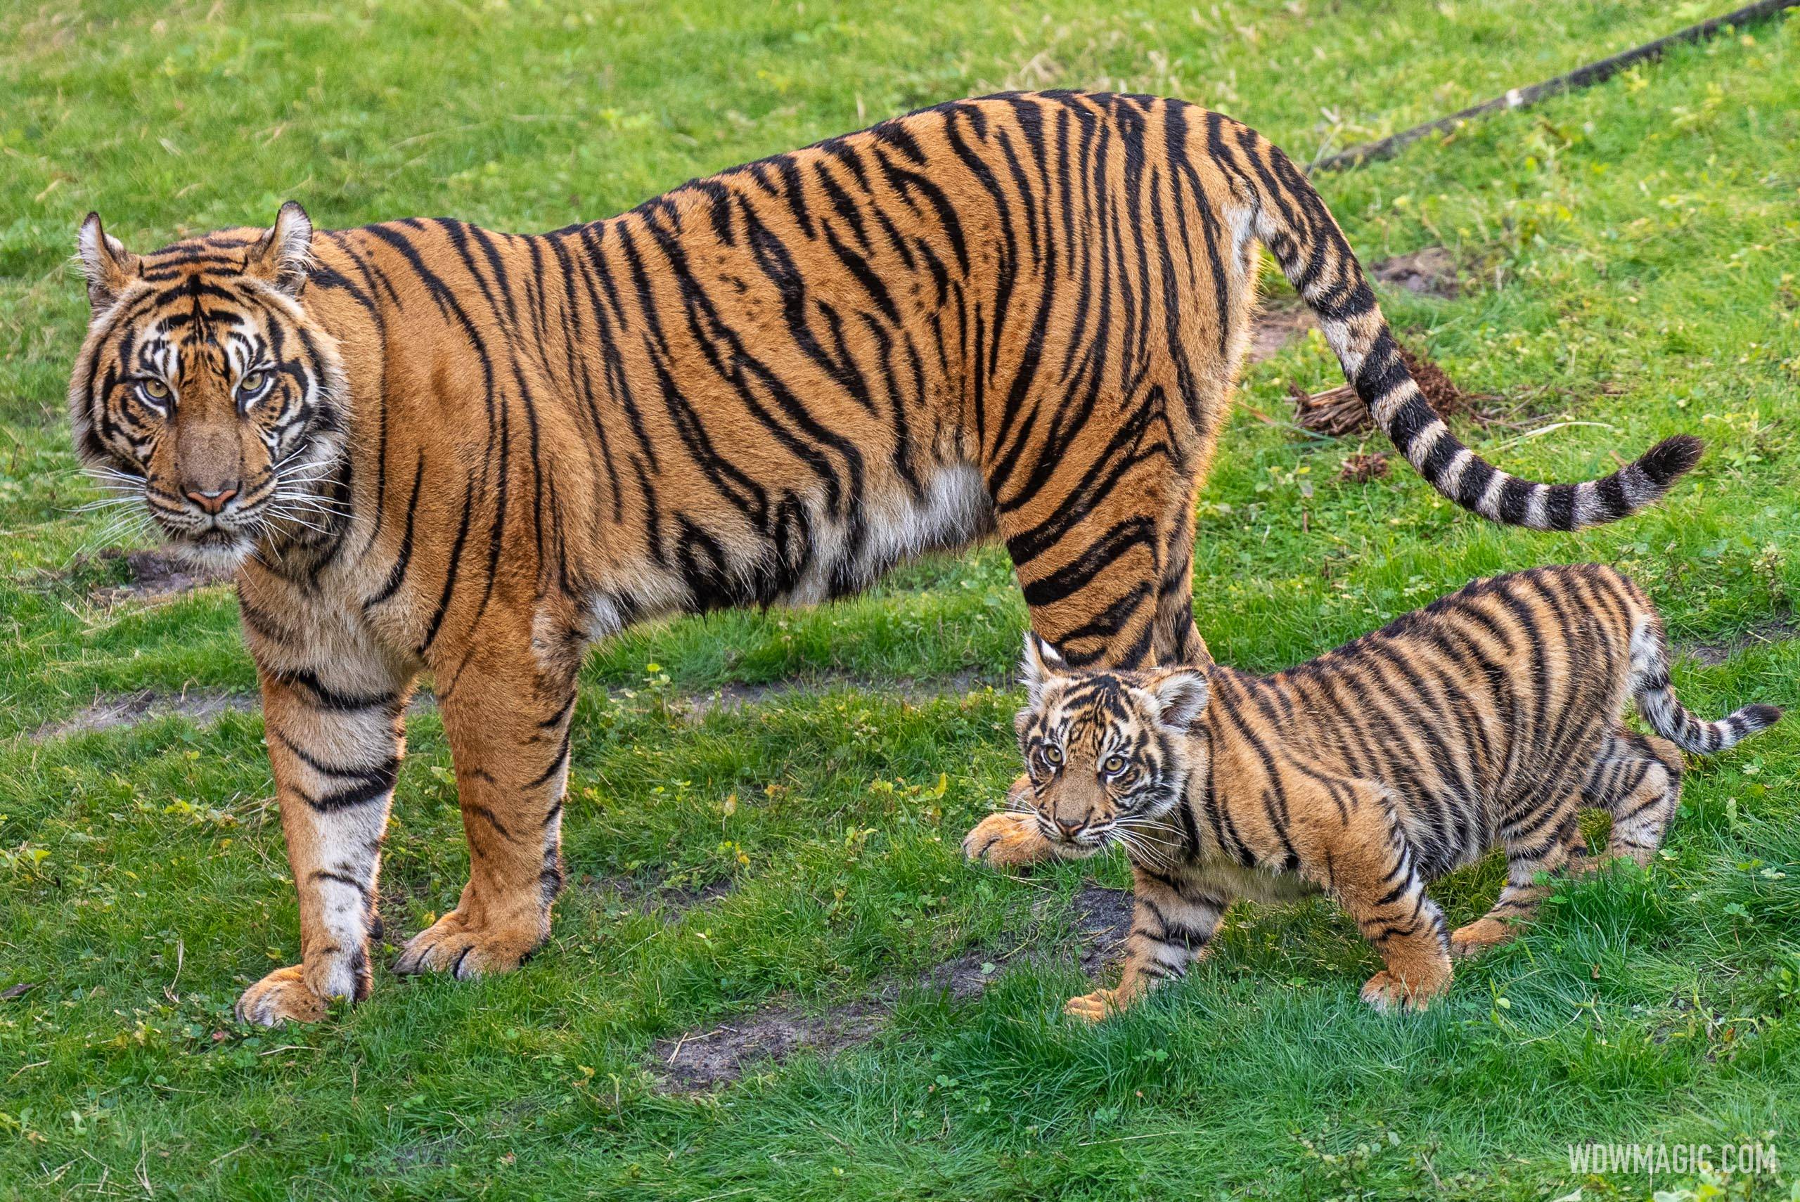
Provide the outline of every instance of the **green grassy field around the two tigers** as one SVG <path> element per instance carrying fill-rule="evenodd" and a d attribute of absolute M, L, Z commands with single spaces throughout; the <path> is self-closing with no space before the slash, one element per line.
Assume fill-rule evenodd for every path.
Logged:
<path fill-rule="evenodd" d="M 576 711 L 571 889 L 522 973 L 376 975 L 337 1020 L 248 1031 L 297 950 L 261 718 L 40 736 L 95 698 L 252 687 L 229 588 L 148 601 L 104 558 L 61 394 L 81 214 L 131 247 L 405 214 L 549 229 L 691 175 L 999 86 L 1127 86 L 1296 157 L 1379 137 L 1724 4 L 1112 5 L 468 0 L 49 2 L 0 14 L 0 1197 L 1800 1197 L 1800 725 L 1697 767 L 1649 871 L 1566 887 L 1427 1015 L 1355 997 L 1328 905 L 1238 909 L 1222 952 L 1100 1029 L 1078 898 L 1118 860 L 1004 878 L 958 839 L 1017 770 L 1024 606 L 995 549 L 808 612 L 598 650 Z M 1669 500 L 1503 533 L 1355 439 L 1289 423 L 1318 340 L 1249 371 L 1199 520 L 1199 626 L 1276 668 L 1498 569 L 1616 563 L 1696 655 L 1710 714 L 1800 704 L 1800 20 L 1319 180 L 1366 261 L 1445 247 L 1456 295 L 1388 290 L 1406 340 L 1516 425 L 1539 475 L 1692 430 Z M 779 686 L 751 689 L 749 686 Z M 904 687 L 902 687 L 904 686 Z M 738 698 L 695 714 L 691 698 Z M 410 722 L 389 937 L 466 853 L 434 713 Z M 1487 909 L 1494 862 L 1435 889 Z M 941 966 L 979 964 L 968 997 Z M 994 968 L 986 973 L 983 966 Z M 967 975 L 967 973 L 965 973 Z M 14 986 L 14 990 L 7 990 Z M 16 986 L 31 986 L 18 991 Z M 711 1094 L 675 1042 L 783 1015 L 866 1040 Z M 799 1026 L 805 1026 L 801 1022 Z M 1579 1177 L 1570 1143 L 1760 1141 L 1719 1182 Z"/>

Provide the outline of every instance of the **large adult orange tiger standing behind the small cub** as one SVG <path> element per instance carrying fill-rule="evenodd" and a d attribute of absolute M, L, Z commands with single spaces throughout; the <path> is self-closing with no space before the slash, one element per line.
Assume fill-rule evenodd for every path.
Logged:
<path fill-rule="evenodd" d="M 430 671 L 470 844 L 400 972 L 513 968 L 549 932 L 576 666 L 653 614 L 806 603 L 999 533 L 1075 664 L 1206 662 L 1192 509 L 1255 243 L 1444 495 L 1573 529 L 1656 498 L 1670 439 L 1528 484 L 1408 378 L 1318 193 L 1179 101 L 995 95 L 542 236 L 403 220 L 133 256 L 81 227 L 70 383 L 90 464 L 238 565 L 302 963 L 256 1022 L 369 990 L 401 711 Z"/>

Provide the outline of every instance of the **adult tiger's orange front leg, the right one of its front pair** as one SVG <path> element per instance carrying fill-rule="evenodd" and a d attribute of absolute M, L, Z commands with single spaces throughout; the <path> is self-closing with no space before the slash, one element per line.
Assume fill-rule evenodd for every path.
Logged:
<path fill-rule="evenodd" d="M 468 884 L 457 907 L 416 934 L 394 972 L 459 981 L 517 968 L 551 934 L 562 891 L 562 810 L 569 777 L 574 666 L 549 671 L 531 651 L 475 651 L 439 696 L 455 765 Z"/>

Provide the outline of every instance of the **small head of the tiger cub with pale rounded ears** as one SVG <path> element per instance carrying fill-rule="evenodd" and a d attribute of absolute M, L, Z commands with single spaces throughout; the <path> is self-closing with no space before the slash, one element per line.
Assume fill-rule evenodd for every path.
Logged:
<path fill-rule="evenodd" d="M 1022 675 L 1030 700 L 1013 725 L 1030 804 L 1066 855 L 1129 844 L 1132 824 L 1166 813 L 1204 767 L 1204 743 L 1188 736 L 1206 709 L 1204 671 L 1076 671 L 1026 633 Z"/>

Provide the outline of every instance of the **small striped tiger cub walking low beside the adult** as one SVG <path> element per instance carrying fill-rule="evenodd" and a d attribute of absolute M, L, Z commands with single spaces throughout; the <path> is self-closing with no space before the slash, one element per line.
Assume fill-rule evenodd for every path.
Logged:
<path fill-rule="evenodd" d="M 1123 844 L 1136 914 L 1100 1020 L 1186 973 L 1233 898 L 1334 894 L 1386 968 L 1377 1009 L 1422 1009 L 1451 957 L 1514 934 L 1580 866 L 1577 810 L 1613 815 L 1607 855 L 1645 864 L 1681 795 L 1681 750 L 1717 752 L 1780 718 L 1701 722 L 1669 684 L 1649 597 L 1609 567 L 1478 579 L 1298 668 L 1076 671 L 1026 635 L 1019 745 L 1030 813 L 1066 855 Z M 1656 731 L 1622 722 L 1625 702 Z M 1426 882 L 1507 849 L 1483 918 L 1445 930 Z"/>

